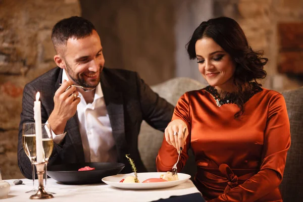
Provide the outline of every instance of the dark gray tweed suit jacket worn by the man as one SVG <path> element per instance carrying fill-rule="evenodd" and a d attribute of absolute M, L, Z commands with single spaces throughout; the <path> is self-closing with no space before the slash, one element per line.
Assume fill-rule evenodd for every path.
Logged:
<path fill-rule="evenodd" d="M 54 95 L 62 81 L 63 70 L 56 67 L 30 83 L 23 91 L 22 113 L 18 137 L 18 165 L 22 174 L 31 179 L 31 164 L 22 146 L 23 123 L 34 122 L 34 99 L 40 92 L 42 123 L 54 109 Z M 138 151 L 138 134 L 142 120 L 154 128 L 164 131 L 170 122 L 174 107 L 151 90 L 138 74 L 127 70 L 104 68 L 100 83 L 109 113 L 113 136 L 118 151 L 118 162 L 124 163 L 122 173 L 130 173 L 126 154 L 134 160 L 138 172 L 146 172 Z M 84 152 L 78 126 L 77 113 L 68 120 L 64 140 L 54 143 L 48 165 L 82 163 Z"/>

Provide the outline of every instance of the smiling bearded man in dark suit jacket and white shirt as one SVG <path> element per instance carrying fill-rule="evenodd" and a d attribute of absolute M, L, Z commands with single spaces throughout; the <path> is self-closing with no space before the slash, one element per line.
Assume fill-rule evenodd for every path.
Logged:
<path fill-rule="evenodd" d="M 174 107 L 137 73 L 104 67 L 100 38 L 89 21 L 81 17 L 59 21 L 52 40 L 58 67 L 24 87 L 18 139 L 22 174 L 32 177 L 22 146 L 22 126 L 34 122 L 37 91 L 42 123 L 51 124 L 53 130 L 54 150 L 48 165 L 121 162 L 125 164 L 122 172 L 128 173 L 132 171 L 125 155 L 130 154 L 138 172 L 145 172 L 137 147 L 140 124 L 145 120 L 164 131 Z"/>

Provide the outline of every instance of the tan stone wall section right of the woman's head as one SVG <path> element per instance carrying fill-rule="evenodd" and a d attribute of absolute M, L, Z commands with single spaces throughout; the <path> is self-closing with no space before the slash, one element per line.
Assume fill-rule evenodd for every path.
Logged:
<path fill-rule="evenodd" d="M 303 85 L 302 75 L 278 72 L 281 57 L 280 37 L 286 37 L 278 32 L 278 25 L 303 21 L 302 0 L 215 0 L 214 17 L 219 16 L 235 19 L 245 32 L 251 47 L 256 51 L 264 51 L 264 56 L 269 59 L 265 66 L 268 73 L 264 82 L 265 87 L 282 91 Z M 297 37 L 291 32 L 288 34 L 299 41 L 303 38 L 302 35 Z M 303 69 L 302 57 L 300 63 Z"/>

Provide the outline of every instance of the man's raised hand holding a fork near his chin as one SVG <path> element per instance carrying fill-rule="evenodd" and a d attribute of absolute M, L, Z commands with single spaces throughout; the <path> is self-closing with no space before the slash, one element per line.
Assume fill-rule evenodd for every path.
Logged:
<path fill-rule="evenodd" d="M 66 122 L 76 114 L 77 105 L 80 103 L 77 88 L 71 86 L 72 84 L 72 81 L 64 80 L 54 96 L 55 107 L 48 117 L 48 123 L 56 135 L 64 132 Z"/>

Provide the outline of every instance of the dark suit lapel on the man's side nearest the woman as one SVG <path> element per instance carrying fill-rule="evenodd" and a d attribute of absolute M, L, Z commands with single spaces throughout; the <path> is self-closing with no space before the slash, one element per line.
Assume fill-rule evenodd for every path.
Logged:
<path fill-rule="evenodd" d="M 123 94 L 109 84 L 110 78 L 105 76 L 105 70 L 100 74 L 100 83 L 104 94 L 106 108 L 113 130 L 113 136 L 118 151 L 118 159 L 121 162 L 127 154 L 127 142 L 124 128 Z"/>

